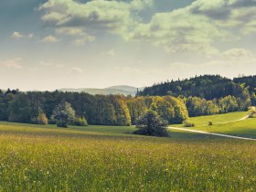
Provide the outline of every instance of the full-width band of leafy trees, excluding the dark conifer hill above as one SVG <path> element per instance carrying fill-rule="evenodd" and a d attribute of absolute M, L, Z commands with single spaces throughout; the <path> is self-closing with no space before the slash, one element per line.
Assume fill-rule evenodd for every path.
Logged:
<path fill-rule="evenodd" d="M 18 123 L 67 123 L 77 125 L 130 125 L 149 112 L 167 123 L 182 123 L 188 116 L 245 111 L 256 104 L 255 93 L 240 85 L 239 97 L 206 100 L 196 96 L 90 95 L 61 91 L 0 91 L 0 121 Z M 63 117 L 68 112 L 69 117 Z M 189 114 L 189 115 L 188 115 Z M 61 116 L 62 115 L 62 116 Z"/>

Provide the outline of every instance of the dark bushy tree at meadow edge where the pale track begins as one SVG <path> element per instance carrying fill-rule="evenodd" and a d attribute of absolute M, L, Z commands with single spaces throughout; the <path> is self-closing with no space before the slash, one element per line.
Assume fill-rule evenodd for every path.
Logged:
<path fill-rule="evenodd" d="M 135 134 L 144 134 L 150 136 L 168 136 L 166 126 L 168 123 L 161 119 L 161 117 L 154 111 L 148 111 L 136 123 L 139 130 Z"/>

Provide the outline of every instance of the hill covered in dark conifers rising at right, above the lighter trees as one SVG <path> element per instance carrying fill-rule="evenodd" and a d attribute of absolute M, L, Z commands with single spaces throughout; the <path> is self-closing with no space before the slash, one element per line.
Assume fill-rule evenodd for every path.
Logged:
<path fill-rule="evenodd" d="M 203 75 L 185 80 L 171 80 L 146 87 L 139 95 L 196 96 L 206 100 L 220 99 L 228 95 L 239 97 L 245 89 L 252 94 L 256 88 L 256 76 L 230 80 L 219 75 Z"/>

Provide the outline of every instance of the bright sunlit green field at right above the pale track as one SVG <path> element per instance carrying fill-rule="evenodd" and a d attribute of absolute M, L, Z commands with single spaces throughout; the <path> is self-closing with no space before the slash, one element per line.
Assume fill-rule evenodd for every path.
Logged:
<path fill-rule="evenodd" d="M 190 122 L 195 123 L 196 126 L 191 129 L 256 138 L 256 118 L 249 118 L 240 122 L 226 123 L 240 120 L 247 114 L 248 112 L 230 112 L 227 114 L 193 117 L 190 118 Z M 208 126 L 209 121 L 213 123 L 212 126 Z M 178 124 L 174 126 L 182 127 L 183 125 Z"/>

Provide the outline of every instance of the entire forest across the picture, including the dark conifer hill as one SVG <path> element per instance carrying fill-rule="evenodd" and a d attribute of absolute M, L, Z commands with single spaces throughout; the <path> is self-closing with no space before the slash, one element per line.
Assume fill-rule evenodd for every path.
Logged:
<path fill-rule="evenodd" d="M 0 121 L 57 123 L 61 103 L 68 103 L 74 116 L 70 121 L 78 125 L 131 125 L 149 110 L 167 123 L 182 123 L 193 116 L 246 111 L 256 104 L 255 87 L 255 77 L 229 80 L 205 75 L 155 84 L 136 97 L 8 89 L 0 91 Z"/>

